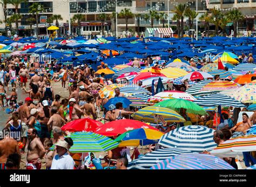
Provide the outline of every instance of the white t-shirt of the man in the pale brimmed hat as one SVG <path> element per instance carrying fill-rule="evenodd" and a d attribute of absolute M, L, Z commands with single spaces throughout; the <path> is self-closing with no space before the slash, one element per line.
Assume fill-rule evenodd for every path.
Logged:
<path fill-rule="evenodd" d="M 74 167 L 75 162 L 68 153 L 65 153 L 61 157 L 59 155 L 53 157 L 51 169 L 74 169 Z"/>

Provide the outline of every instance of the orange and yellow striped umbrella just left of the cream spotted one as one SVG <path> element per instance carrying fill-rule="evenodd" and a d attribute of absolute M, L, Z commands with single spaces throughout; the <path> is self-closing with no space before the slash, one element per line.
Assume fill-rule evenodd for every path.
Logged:
<path fill-rule="evenodd" d="M 226 89 L 239 88 L 239 85 L 230 81 L 213 81 L 200 89 L 202 91 L 224 91 Z"/>

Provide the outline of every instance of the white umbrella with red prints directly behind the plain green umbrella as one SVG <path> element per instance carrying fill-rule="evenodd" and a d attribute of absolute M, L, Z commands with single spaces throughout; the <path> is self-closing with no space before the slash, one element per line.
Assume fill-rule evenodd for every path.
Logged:
<path fill-rule="evenodd" d="M 167 99 L 185 99 L 188 101 L 194 101 L 196 98 L 194 98 L 191 94 L 188 94 L 186 92 L 181 92 L 181 91 L 164 91 L 160 92 L 154 96 L 151 96 L 147 102 L 161 102 Z"/>

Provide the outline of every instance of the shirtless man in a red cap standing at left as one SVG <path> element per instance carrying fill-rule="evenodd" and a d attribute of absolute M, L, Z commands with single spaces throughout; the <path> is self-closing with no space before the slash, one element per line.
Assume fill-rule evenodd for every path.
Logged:
<path fill-rule="evenodd" d="M 19 112 L 19 119 L 21 120 L 22 123 L 22 143 L 26 146 L 26 133 L 28 131 L 28 125 L 26 124 L 26 121 L 28 121 L 29 116 L 30 116 L 30 105 L 32 103 L 31 98 L 26 98 L 25 103 L 18 108 Z M 22 148 L 22 153 L 25 151 L 25 146 Z"/>

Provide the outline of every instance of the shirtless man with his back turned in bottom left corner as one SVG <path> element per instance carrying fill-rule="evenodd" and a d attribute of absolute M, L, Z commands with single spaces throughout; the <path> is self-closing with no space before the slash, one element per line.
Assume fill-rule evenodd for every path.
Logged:
<path fill-rule="evenodd" d="M 0 141 L 0 170 L 6 169 L 5 163 L 9 155 L 17 153 L 19 158 L 21 158 L 18 142 L 14 138 L 9 137 L 6 133 L 10 133 L 8 128 L 3 129 L 4 138 Z"/>

